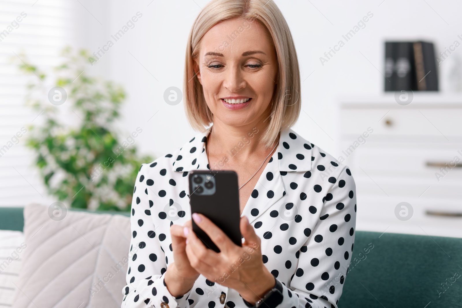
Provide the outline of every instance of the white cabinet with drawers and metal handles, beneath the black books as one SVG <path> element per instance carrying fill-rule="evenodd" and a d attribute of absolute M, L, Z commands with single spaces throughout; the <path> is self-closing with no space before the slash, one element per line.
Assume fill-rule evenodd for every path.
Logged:
<path fill-rule="evenodd" d="M 357 229 L 462 237 L 462 96 L 415 92 L 406 106 L 393 94 L 342 97 L 339 108 Z"/>

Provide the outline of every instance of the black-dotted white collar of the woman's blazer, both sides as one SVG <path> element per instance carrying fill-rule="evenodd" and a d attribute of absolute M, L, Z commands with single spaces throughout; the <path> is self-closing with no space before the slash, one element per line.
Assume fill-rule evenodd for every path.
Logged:
<path fill-rule="evenodd" d="M 196 169 L 210 169 L 205 152 L 205 142 L 209 133 L 210 129 L 197 133 L 193 139 L 180 148 L 178 156 L 172 164 L 173 171 L 185 172 Z M 242 145 L 245 146 L 243 143 Z M 303 139 L 291 128 L 281 130 L 279 145 L 273 155 L 274 159 L 276 159 L 277 155 L 279 171 L 311 170 L 312 147 L 313 145 L 309 141 Z"/>

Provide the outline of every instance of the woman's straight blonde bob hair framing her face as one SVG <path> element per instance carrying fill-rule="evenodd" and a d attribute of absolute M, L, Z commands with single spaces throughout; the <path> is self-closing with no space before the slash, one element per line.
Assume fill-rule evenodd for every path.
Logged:
<path fill-rule="evenodd" d="M 204 34 L 215 24 L 233 18 L 259 22 L 271 36 L 276 50 L 279 73 L 270 103 L 270 121 L 260 138 L 260 142 L 269 148 L 277 140 L 280 130 L 295 124 L 301 107 L 297 52 L 286 19 L 273 0 L 212 0 L 199 13 L 189 32 L 186 49 L 183 80 L 186 116 L 190 125 L 200 132 L 205 132 L 213 123 L 194 63 Z M 234 34 L 239 35 L 239 30 Z"/>

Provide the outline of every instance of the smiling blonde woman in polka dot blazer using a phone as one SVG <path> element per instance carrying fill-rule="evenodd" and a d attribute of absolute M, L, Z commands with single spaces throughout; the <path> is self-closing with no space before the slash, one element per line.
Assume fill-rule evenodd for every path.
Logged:
<path fill-rule="evenodd" d="M 122 307 L 337 307 L 353 251 L 355 184 L 346 166 L 290 128 L 300 77 L 280 10 L 272 0 L 211 1 L 190 32 L 185 66 L 186 113 L 201 133 L 141 165 Z M 242 247 L 191 216 L 195 169 L 237 172 Z M 191 218 L 219 254 L 192 232 Z"/>

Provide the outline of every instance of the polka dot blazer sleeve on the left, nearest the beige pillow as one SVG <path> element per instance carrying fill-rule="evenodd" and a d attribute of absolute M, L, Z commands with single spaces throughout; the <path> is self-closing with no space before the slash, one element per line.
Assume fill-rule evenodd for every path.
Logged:
<path fill-rule="evenodd" d="M 152 186 L 148 188 L 146 184 L 144 165 L 141 165 L 136 176 L 132 199 L 130 216 L 132 237 L 128 254 L 127 285 L 122 290 L 121 307 L 161 307 L 160 304 L 165 302 L 170 308 L 188 308 L 187 298 L 191 290 L 183 296 L 174 297 L 164 282 L 167 265 L 151 218 L 151 207 L 156 205 L 149 200 L 147 194 L 147 190 L 151 190 Z"/>

